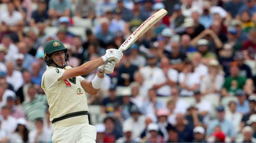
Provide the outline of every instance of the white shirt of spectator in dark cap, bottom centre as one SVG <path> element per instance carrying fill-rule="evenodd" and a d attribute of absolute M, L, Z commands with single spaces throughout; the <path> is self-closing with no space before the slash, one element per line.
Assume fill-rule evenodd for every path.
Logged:
<path fill-rule="evenodd" d="M 138 121 L 135 122 L 133 117 L 131 116 L 123 122 L 123 127 L 128 125 L 132 126 L 132 138 L 140 137 L 140 134 L 146 128 L 145 119 L 145 116 L 140 115 Z"/>

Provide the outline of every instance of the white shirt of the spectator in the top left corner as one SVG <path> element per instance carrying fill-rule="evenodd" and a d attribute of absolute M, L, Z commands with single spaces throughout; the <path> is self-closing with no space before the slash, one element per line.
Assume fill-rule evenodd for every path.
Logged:
<path fill-rule="evenodd" d="M 22 18 L 22 14 L 16 10 L 14 10 L 12 15 L 10 15 L 8 11 L 0 12 L 0 21 L 4 22 L 8 26 L 14 26 L 18 24 L 18 22 L 21 21 Z"/>

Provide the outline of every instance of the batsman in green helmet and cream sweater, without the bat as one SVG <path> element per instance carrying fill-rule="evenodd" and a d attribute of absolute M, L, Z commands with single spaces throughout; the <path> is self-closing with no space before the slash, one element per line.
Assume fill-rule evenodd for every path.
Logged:
<path fill-rule="evenodd" d="M 99 91 L 105 74 L 113 73 L 122 52 L 108 49 L 101 58 L 76 68 L 68 66 L 67 48 L 59 40 L 48 42 L 44 53 L 47 70 L 42 76 L 41 86 L 47 96 L 53 123 L 52 142 L 95 143 L 96 128 L 89 125 L 85 92 L 95 95 Z M 96 68 L 98 72 L 91 82 L 81 76 Z"/>

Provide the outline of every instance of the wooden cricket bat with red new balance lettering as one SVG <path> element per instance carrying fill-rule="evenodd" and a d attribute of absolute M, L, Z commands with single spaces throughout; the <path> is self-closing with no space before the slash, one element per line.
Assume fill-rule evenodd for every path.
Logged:
<path fill-rule="evenodd" d="M 167 14 L 165 9 L 160 9 L 155 14 L 148 17 L 119 47 L 118 50 L 127 50 L 138 38 L 140 38 L 145 32 L 147 32 L 154 24 L 156 24 L 161 18 Z"/>

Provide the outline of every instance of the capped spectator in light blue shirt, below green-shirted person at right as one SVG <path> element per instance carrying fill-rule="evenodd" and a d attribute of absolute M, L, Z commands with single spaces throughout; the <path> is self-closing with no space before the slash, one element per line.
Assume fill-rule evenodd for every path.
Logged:
<path fill-rule="evenodd" d="M 246 95 L 243 92 L 243 90 L 237 90 L 235 95 L 237 96 L 237 99 L 238 99 L 238 102 L 236 103 L 237 112 L 240 112 L 243 115 L 249 113 L 250 111 L 249 101 L 246 99 Z"/>

